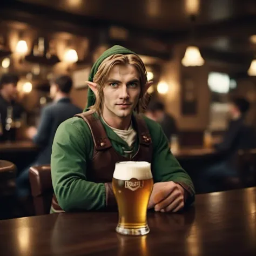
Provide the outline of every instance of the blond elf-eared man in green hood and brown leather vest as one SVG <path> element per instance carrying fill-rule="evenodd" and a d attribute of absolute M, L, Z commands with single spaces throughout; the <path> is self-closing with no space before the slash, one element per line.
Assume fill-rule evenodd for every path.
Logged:
<path fill-rule="evenodd" d="M 52 145 L 56 197 L 51 212 L 116 207 L 117 161 L 149 161 L 154 179 L 149 208 L 177 212 L 194 198 L 193 183 L 172 156 L 161 127 L 138 112 L 151 83 L 136 53 L 113 46 L 93 65 L 84 113 L 62 123 Z M 96 97 L 95 97 L 96 96 Z"/>

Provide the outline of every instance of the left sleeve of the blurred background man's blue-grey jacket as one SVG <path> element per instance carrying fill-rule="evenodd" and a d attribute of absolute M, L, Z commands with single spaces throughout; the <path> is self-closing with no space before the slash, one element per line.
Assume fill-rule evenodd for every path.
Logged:
<path fill-rule="evenodd" d="M 48 143 L 52 127 L 52 114 L 49 108 L 42 109 L 40 122 L 37 133 L 33 137 L 33 142 L 37 145 L 44 146 Z"/>

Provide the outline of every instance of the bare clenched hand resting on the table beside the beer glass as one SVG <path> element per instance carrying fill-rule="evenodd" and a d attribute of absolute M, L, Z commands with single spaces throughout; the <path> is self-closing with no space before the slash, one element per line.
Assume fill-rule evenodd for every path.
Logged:
<path fill-rule="evenodd" d="M 186 191 L 173 181 L 155 183 L 148 208 L 160 212 L 177 212 L 184 207 Z"/>

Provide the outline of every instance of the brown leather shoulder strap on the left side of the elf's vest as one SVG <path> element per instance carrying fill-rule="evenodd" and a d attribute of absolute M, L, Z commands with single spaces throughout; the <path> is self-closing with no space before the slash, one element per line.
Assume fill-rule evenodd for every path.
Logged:
<path fill-rule="evenodd" d="M 109 149 L 112 146 L 111 142 L 107 137 L 102 122 L 100 122 L 100 119 L 93 114 L 94 112 L 95 111 L 93 110 L 89 110 L 80 114 L 76 114 L 75 116 L 82 118 L 89 126 L 96 150 Z"/>

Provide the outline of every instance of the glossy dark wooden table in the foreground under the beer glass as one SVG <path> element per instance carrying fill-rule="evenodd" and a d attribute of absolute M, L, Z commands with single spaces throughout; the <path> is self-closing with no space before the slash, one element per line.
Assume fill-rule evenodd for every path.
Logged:
<path fill-rule="evenodd" d="M 150 233 L 114 231 L 116 212 L 0 221 L 0 255 L 256 255 L 256 188 L 196 196 L 184 213 L 149 212 Z"/>

